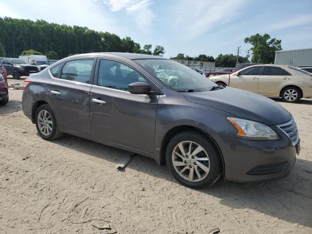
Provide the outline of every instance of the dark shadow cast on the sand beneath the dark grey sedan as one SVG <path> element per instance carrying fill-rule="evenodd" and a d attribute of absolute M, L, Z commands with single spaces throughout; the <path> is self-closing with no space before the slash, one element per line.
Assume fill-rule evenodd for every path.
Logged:
<path fill-rule="evenodd" d="M 53 142 L 112 163 L 118 163 L 125 155 L 125 151 L 70 135 Z M 136 155 L 127 168 L 177 184 L 165 165 L 159 166 L 148 157 Z M 127 173 L 127 169 L 124 173 Z M 180 186 L 181 190 L 185 189 Z M 203 199 L 205 196 L 218 197 L 222 205 L 242 210 L 246 215 L 247 209 L 253 209 L 271 217 L 312 227 L 312 161 L 297 158 L 291 174 L 283 179 L 257 184 L 219 179 L 212 187 L 196 191 L 202 193 Z"/>

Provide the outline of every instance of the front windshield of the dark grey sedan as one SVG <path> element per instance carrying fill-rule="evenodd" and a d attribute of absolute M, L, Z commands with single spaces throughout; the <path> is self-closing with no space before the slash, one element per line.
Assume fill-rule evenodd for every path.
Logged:
<path fill-rule="evenodd" d="M 193 69 L 169 59 L 135 59 L 137 64 L 153 74 L 164 85 L 180 92 L 210 91 L 215 82 Z"/>

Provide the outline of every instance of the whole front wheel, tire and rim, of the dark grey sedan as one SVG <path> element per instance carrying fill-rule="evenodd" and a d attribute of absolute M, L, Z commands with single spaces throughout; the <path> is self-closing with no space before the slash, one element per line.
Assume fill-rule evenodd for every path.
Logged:
<path fill-rule="evenodd" d="M 182 132 L 170 140 L 166 162 L 176 180 L 192 188 L 209 187 L 222 174 L 222 162 L 215 145 L 196 131 Z"/>

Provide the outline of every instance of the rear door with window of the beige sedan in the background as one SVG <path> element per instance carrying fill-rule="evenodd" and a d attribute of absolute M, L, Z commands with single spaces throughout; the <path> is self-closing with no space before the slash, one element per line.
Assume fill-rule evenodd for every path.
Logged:
<path fill-rule="evenodd" d="M 287 83 L 292 82 L 292 75 L 281 67 L 264 66 L 259 79 L 259 93 L 276 95 Z"/>

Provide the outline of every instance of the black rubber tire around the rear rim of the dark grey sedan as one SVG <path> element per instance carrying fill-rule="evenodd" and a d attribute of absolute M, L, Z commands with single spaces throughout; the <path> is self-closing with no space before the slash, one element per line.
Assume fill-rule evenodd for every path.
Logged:
<path fill-rule="evenodd" d="M 52 120 L 52 131 L 48 136 L 44 135 L 39 129 L 38 116 L 39 116 L 40 111 L 42 111 L 42 110 L 47 111 L 49 113 L 49 115 L 51 116 L 51 120 Z M 48 104 L 43 104 L 43 105 L 40 105 L 38 107 L 38 109 L 36 111 L 36 115 L 35 115 L 35 124 L 36 124 L 36 128 L 37 128 L 37 131 L 38 131 L 40 137 L 42 137 L 45 140 L 55 140 L 55 139 L 58 139 L 59 137 L 63 136 L 63 133 L 59 131 L 59 126 L 58 126 L 58 123 L 56 121 L 56 117 L 54 115 L 54 112 Z"/>

